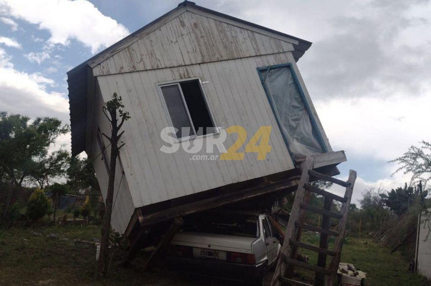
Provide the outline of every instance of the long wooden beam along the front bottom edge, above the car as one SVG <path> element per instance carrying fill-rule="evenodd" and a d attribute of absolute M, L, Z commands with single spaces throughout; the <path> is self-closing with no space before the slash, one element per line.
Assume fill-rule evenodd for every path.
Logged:
<path fill-rule="evenodd" d="M 139 217 L 139 223 L 141 224 L 141 227 L 144 227 L 158 223 L 160 221 L 167 221 L 171 218 L 175 218 L 176 216 L 184 216 L 200 211 L 206 211 L 212 208 L 220 207 L 222 205 L 228 205 L 234 202 L 244 201 L 246 199 L 262 196 L 268 193 L 286 190 L 290 187 L 297 186 L 299 181 L 298 179 L 298 176 L 294 176 L 290 177 L 287 180 L 281 180 L 277 183 L 250 187 L 234 193 L 228 193 L 222 196 L 216 196 L 209 199 L 203 199 L 197 202 L 191 202 L 184 205 L 179 205 L 177 207 L 168 208 L 166 210 L 157 211 L 152 214 L 144 214 Z"/>

